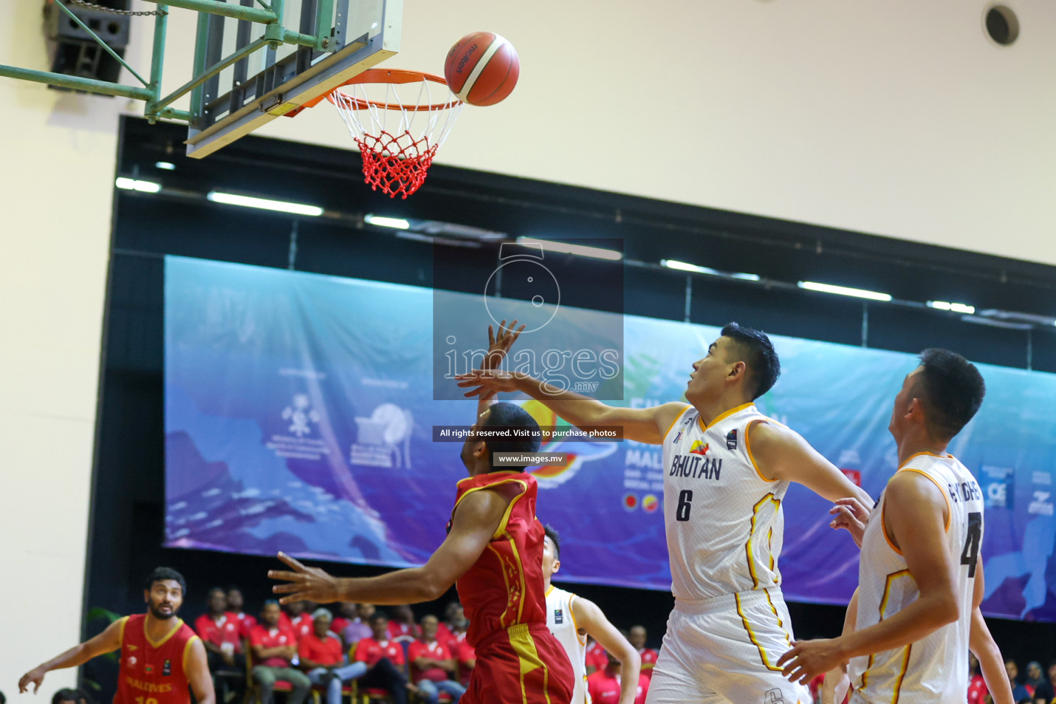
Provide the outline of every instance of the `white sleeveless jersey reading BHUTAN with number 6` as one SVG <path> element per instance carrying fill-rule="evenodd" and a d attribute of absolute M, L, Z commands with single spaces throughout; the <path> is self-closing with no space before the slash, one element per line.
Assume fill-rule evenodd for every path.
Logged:
<path fill-rule="evenodd" d="M 693 406 L 663 439 L 663 513 L 672 592 L 683 602 L 776 587 L 789 482 L 762 478 L 750 425 L 775 422 L 753 403 L 704 425 Z"/>

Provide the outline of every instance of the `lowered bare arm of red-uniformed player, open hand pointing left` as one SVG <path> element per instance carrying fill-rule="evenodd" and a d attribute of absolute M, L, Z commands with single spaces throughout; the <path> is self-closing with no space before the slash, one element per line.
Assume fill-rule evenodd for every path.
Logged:
<path fill-rule="evenodd" d="M 502 524 L 510 498 L 497 490 L 468 494 L 455 511 L 448 537 L 421 567 L 376 577 L 335 577 L 280 552 L 279 559 L 294 571 L 269 571 L 268 577 L 288 583 L 276 585 L 272 591 L 286 594 L 280 600 L 283 604 L 306 598 L 321 604 L 365 602 L 391 606 L 439 598 L 484 552 Z"/>

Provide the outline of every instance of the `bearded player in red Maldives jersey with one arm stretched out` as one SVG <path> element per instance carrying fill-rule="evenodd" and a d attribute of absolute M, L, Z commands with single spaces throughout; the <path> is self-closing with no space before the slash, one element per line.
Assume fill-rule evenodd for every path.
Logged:
<path fill-rule="evenodd" d="M 186 591 L 183 575 L 157 568 L 144 587 L 147 613 L 118 619 L 95 638 L 30 670 L 18 681 L 18 690 L 24 692 L 33 684 L 36 693 L 51 670 L 77 667 L 120 648 L 114 704 L 190 704 L 188 685 L 197 704 L 216 704 L 205 646 L 176 616 Z"/>

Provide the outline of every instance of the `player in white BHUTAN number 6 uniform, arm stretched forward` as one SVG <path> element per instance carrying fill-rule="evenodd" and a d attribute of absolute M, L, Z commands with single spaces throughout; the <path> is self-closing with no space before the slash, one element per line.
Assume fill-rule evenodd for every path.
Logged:
<path fill-rule="evenodd" d="M 789 482 L 835 501 L 872 500 L 806 440 L 759 413 L 780 363 L 770 339 L 731 323 L 693 364 L 685 399 L 652 408 L 606 405 L 523 375 L 475 372 L 467 396 L 524 392 L 580 427 L 618 425 L 663 445 L 664 519 L 675 610 L 648 704 L 809 704 L 781 677 L 793 640 L 780 592 L 781 502 Z"/>

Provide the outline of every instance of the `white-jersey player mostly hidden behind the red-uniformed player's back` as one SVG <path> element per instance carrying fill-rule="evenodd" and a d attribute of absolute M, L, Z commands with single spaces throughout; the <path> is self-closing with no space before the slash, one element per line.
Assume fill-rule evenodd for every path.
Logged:
<path fill-rule="evenodd" d="M 543 582 L 546 586 L 546 625 L 565 647 L 576 673 L 571 704 L 590 704 L 587 693 L 587 635 L 620 661 L 620 702 L 634 704 L 638 696 L 638 674 L 642 660 L 635 646 L 609 623 L 598 605 L 550 584 L 561 569 L 561 536 L 546 527 L 543 543 Z"/>

